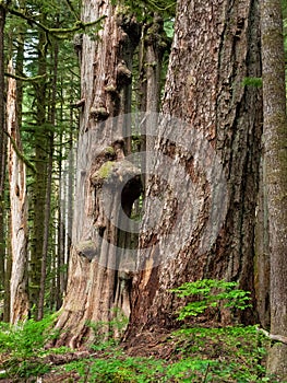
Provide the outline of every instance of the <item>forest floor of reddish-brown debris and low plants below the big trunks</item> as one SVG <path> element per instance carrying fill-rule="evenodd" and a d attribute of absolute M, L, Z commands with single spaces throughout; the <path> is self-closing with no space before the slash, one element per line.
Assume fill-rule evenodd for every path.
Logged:
<path fill-rule="evenodd" d="M 254 326 L 157 329 L 120 345 L 97 344 L 91 350 L 34 357 L 25 371 L 38 364 L 37 374 L 27 376 L 22 367 L 0 382 L 282 382 L 265 375 L 267 346 Z M 9 356 L 0 353 L 0 367 L 8 365 L 7 360 Z"/>

